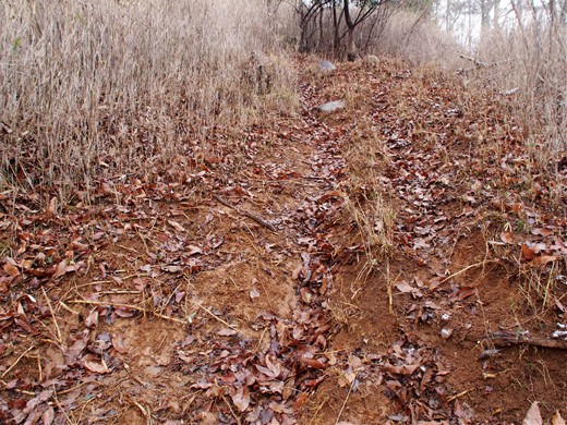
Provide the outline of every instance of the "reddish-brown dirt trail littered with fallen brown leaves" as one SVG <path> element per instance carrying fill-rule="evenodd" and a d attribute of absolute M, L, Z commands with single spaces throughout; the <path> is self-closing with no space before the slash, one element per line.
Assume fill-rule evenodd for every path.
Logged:
<path fill-rule="evenodd" d="M 471 155 L 481 124 L 514 147 L 514 123 L 472 117 L 435 73 L 314 66 L 301 112 L 239 150 L 105 182 L 96 207 L 19 210 L 1 421 L 517 423 L 531 401 L 567 405 L 565 351 L 486 351 L 491 331 L 548 336 L 562 313 L 526 306 L 500 234 L 518 211 L 494 212 L 502 175 Z M 378 198 L 393 240 L 369 251 L 348 205 L 377 229 Z M 546 229 L 542 267 L 565 270 L 565 223 L 521 214 Z"/>

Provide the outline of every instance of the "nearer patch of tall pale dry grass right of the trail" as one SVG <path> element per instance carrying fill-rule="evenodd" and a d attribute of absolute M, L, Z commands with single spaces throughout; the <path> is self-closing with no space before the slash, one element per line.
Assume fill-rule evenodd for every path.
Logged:
<path fill-rule="evenodd" d="M 480 66 L 467 74 L 469 87 L 503 97 L 503 106 L 524 126 L 532 174 L 556 181 L 551 201 L 560 206 L 567 199 L 557 172 L 567 155 L 567 29 L 540 22 L 494 32 L 475 58 Z"/>

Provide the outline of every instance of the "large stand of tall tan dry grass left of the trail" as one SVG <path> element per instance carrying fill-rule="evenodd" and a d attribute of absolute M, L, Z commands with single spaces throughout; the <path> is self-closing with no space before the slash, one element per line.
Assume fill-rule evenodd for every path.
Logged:
<path fill-rule="evenodd" d="M 14 0 L 0 5 L 0 187 L 55 187 L 222 149 L 293 74 L 254 0 Z"/>

